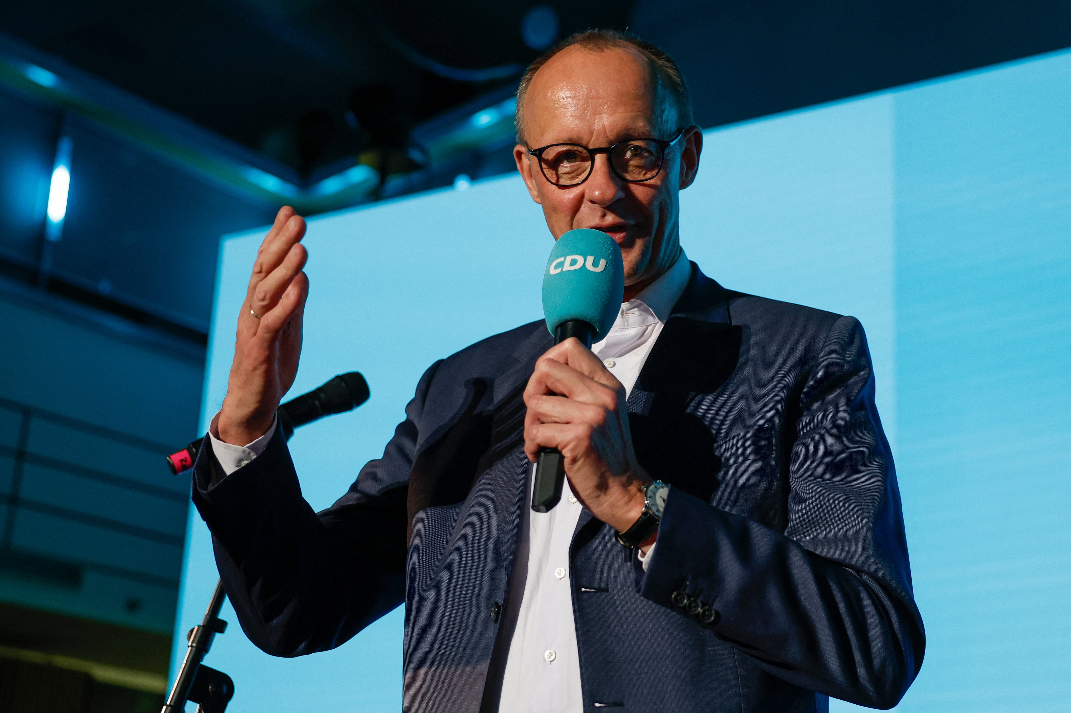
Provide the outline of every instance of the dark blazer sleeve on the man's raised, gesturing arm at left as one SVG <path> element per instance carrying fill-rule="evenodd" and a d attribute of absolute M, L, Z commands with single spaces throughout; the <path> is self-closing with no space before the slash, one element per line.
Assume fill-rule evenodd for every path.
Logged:
<path fill-rule="evenodd" d="M 331 507 L 301 495 L 281 430 L 248 465 L 221 477 L 209 439 L 194 466 L 193 500 L 242 631 L 276 656 L 333 649 L 405 600 L 406 496 L 424 400 L 440 362 L 421 378 L 382 458 Z"/>

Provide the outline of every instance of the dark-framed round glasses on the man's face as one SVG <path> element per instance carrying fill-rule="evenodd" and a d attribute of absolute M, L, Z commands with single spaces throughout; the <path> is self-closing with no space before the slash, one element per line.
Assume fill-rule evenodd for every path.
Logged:
<path fill-rule="evenodd" d="M 528 153 L 539 160 L 543 177 L 557 186 L 579 185 L 587 181 L 594 170 L 595 156 L 600 153 L 606 154 L 610 168 L 622 181 L 643 183 L 662 171 L 666 149 L 683 135 L 682 128 L 668 141 L 652 138 L 625 139 L 598 149 L 589 149 L 580 143 L 550 143 L 529 149 Z"/>

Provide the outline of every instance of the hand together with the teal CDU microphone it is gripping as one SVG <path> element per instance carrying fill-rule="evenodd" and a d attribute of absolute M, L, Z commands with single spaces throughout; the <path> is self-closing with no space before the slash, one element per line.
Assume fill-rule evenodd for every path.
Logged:
<path fill-rule="evenodd" d="M 609 332 L 623 291 L 617 243 L 599 230 L 561 236 L 543 276 L 555 346 L 525 390 L 525 452 L 537 462 L 532 510 L 558 503 L 568 472 L 580 502 L 622 532 L 643 512 L 640 485 L 650 479 L 632 449 L 624 389 L 590 346 Z"/>

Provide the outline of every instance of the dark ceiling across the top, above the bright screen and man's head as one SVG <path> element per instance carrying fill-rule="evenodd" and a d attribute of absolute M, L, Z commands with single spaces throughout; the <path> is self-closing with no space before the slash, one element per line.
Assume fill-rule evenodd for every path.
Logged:
<path fill-rule="evenodd" d="M 533 17 L 544 20 L 536 42 L 524 29 Z M 3 31 L 304 178 L 368 149 L 404 152 L 412 126 L 506 89 L 540 47 L 591 27 L 629 28 L 669 50 L 696 118 L 712 126 L 1071 45 L 1071 4 L 0 2 Z"/>

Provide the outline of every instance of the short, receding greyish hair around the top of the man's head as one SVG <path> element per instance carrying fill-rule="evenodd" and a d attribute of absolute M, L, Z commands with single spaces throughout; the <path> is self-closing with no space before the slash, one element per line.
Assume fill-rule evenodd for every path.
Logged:
<path fill-rule="evenodd" d="M 552 57 L 560 52 L 562 49 L 574 45 L 597 52 L 619 47 L 625 49 L 638 49 L 651 64 L 651 69 L 653 70 L 653 74 L 658 80 L 655 91 L 659 89 L 665 91 L 669 96 L 669 100 L 673 102 L 673 107 L 677 112 L 677 119 L 682 124 L 680 128 L 685 128 L 692 125 L 692 96 L 689 94 L 688 85 L 684 84 L 684 75 L 681 74 L 680 67 L 677 66 L 677 63 L 672 57 L 669 57 L 669 55 L 664 52 L 662 49 L 659 49 L 651 43 L 640 40 L 633 34 L 617 32 L 615 30 L 588 30 L 587 32 L 578 32 L 558 42 L 548 50 L 540 55 L 536 61 L 529 64 L 528 69 L 525 70 L 524 76 L 521 77 L 521 86 L 517 87 L 517 113 L 515 119 L 517 125 L 517 143 L 525 143 L 524 105 L 525 96 L 528 93 L 528 87 L 531 85 L 532 77 L 536 76 L 536 73 L 539 72 Z"/>

